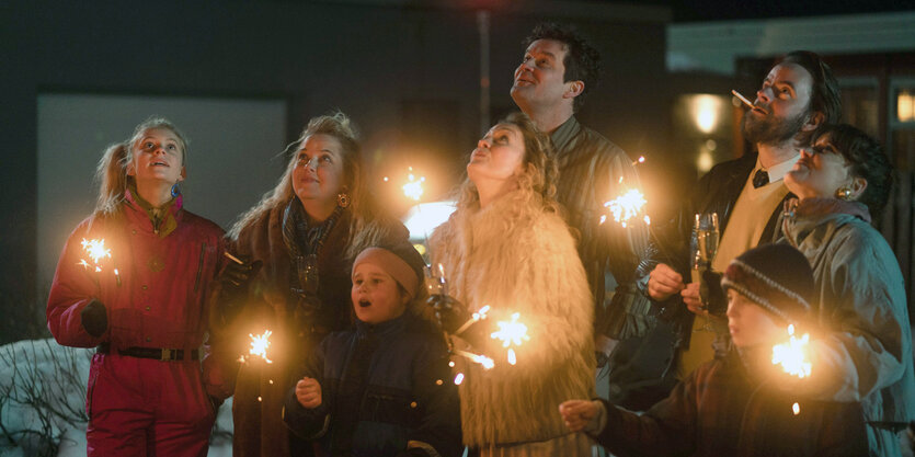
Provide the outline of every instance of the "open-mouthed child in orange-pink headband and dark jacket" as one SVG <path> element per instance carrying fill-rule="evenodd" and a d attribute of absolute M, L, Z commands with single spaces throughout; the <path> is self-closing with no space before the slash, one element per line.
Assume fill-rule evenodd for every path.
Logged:
<path fill-rule="evenodd" d="M 422 266 L 408 243 L 368 248 L 353 263 L 355 329 L 324 339 L 283 412 L 316 456 L 460 455 L 447 349 L 413 311 Z"/>

